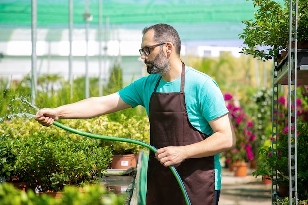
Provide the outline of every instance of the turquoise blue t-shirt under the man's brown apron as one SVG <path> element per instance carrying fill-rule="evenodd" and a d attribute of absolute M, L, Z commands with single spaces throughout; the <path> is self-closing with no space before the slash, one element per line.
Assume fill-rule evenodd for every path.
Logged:
<path fill-rule="evenodd" d="M 160 75 L 149 75 L 136 80 L 118 92 L 121 99 L 136 107 L 145 107 L 149 115 L 149 102 Z M 157 92 L 180 92 L 181 77 L 165 82 L 160 80 Z M 185 102 L 191 124 L 206 135 L 212 135 L 208 121 L 228 113 L 221 90 L 208 75 L 187 67 L 185 72 Z M 215 190 L 221 189 L 221 165 L 219 154 L 214 156 Z"/>

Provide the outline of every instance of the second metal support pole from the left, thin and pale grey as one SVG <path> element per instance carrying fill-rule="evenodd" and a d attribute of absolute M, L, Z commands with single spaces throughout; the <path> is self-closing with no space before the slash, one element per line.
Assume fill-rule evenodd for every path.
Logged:
<path fill-rule="evenodd" d="M 72 57 L 72 33 L 73 33 L 73 0 L 69 0 L 69 57 L 68 57 L 68 78 L 69 78 L 69 85 L 70 85 L 70 98 L 73 98 L 73 70 L 72 70 L 72 62 L 73 62 L 73 57 Z"/>

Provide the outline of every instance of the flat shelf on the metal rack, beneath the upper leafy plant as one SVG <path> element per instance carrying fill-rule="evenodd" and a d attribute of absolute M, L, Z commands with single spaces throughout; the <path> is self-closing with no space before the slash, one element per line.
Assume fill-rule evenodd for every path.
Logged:
<path fill-rule="evenodd" d="M 277 77 L 274 84 L 288 85 L 288 54 L 281 60 L 279 65 L 275 67 Z M 294 74 L 292 73 L 292 80 Z M 308 49 L 297 50 L 297 85 L 308 85 Z"/>

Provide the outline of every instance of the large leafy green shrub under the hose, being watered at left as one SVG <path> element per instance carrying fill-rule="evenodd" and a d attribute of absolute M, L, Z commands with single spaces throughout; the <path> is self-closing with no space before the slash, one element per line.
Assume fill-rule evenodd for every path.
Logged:
<path fill-rule="evenodd" d="M 13 122 L 16 128 L 20 123 L 28 131 L 11 135 L 15 129 L 7 132 L 1 129 L 4 132 L 2 136 L 6 135 L 11 141 L 10 150 L 14 151 L 12 173 L 40 191 L 57 192 L 65 185 L 81 186 L 93 182 L 110 163 L 111 150 L 100 147 L 95 139 L 76 140 L 58 135 L 55 129 L 43 132 L 38 123 L 17 119 Z M 10 126 L 14 126 L 13 122 Z"/>

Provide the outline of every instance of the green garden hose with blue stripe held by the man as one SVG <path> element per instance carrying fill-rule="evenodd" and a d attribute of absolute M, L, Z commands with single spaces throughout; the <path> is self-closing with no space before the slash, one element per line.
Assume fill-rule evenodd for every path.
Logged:
<path fill-rule="evenodd" d="M 83 132 L 83 131 L 76 130 L 76 129 L 73 129 L 71 127 L 65 126 L 65 125 L 63 125 L 59 122 L 56 122 L 56 121 L 54 121 L 53 125 L 60 127 L 60 128 L 66 130 L 66 131 L 78 134 L 78 135 L 91 137 L 91 138 L 95 138 L 95 139 L 100 139 L 100 140 L 110 140 L 110 141 L 120 141 L 120 142 L 126 142 L 126 143 L 133 143 L 133 144 L 144 146 L 144 147 L 150 149 L 151 151 L 153 151 L 154 153 L 157 152 L 157 149 L 154 146 L 149 145 L 149 144 L 142 142 L 142 141 L 139 141 L 139 140 L 122 138 L 122 137 L 103 136 L 103 135 L 92 134 L 92 133 L 89 133 L 89 132 Z M 181 180 L 181 177 L 179 176 L 177 170 L 172 165 L 169 166 L 169 168 L 170 168 L 171 172 L 173 173 L 173 175 L 175 176 L 178 184 L 180 185 L 181 191 L 182 191 L 183 196 L 185 198 L 186 205 L 191 205 L 188 194 L 187 194 L 186 189 L 185 189 L 185 186 L 184 186 L 184 184 Z"/>

